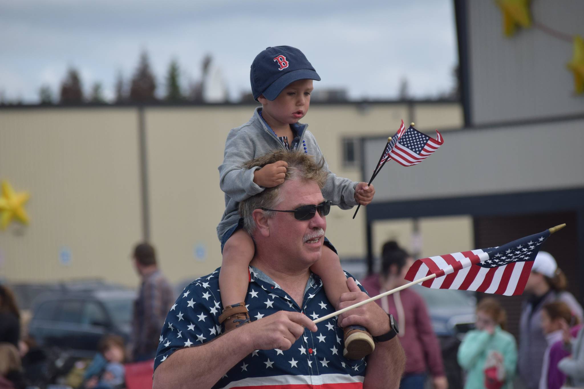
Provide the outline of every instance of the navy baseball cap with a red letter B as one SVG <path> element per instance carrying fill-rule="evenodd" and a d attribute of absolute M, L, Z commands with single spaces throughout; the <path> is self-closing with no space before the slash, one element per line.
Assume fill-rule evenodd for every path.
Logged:
<path fill-rule="evenodd" d="M 321 77 L 302 51 L 290 46 L 275 46 L 267 47 L 253 59 L 249 79 L 253 99 L 258 101 L 260 94 L 268 100 L 276 99 L 294 81 L 320 81 Z"/>

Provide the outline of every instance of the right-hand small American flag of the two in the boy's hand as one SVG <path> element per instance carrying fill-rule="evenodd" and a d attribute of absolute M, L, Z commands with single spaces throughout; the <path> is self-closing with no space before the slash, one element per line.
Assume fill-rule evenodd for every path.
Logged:
<path fill-rule="evenodd" d="M 389 156 L 404 166 L 417 165 L 444 143 L 440 132 L 436 130 L 436 134 L 436 139 L 433 139 L 410 126 L 395 147 L 390 149 Z"/>

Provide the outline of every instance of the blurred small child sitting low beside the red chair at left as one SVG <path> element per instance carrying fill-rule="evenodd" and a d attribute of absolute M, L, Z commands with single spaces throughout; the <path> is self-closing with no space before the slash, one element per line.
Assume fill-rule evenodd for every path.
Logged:
<path fill-rule="evenodd" d="M 119 389 L 124 386 L 124 339 L 117 335 L 106 335 L 99 342 L 99 352 L 106 360 L 103 370 L 85 383 L 85 389 Z"/>

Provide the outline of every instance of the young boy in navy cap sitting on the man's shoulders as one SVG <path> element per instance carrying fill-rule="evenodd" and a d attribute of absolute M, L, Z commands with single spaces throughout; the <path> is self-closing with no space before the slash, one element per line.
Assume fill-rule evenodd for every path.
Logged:
<path fill-rule="evenodd" d="M 253 98 L 262 107 L 255 109 L 251 120 L 229 132 L 223 164 L 219 167 L 220 186 L 225 192 L 225 212 L 217 226 L 223 253 L 219 285 L 224 310 L 219 320 L 225 325 L 225 331 L 249 322 L 245 296 L 249 262 L 255 248 L 251 236 L 242 228 L 238 204 L 265 188 L 283 183 L 287 170 L 283 161 L 261 169 L 242 169 L 242 165 L 276 148 L 308 153 L 317 160 L 323 157 L 308 125 L 298 122 L 310 107 L 312 80 L 321 79 L 304 54 L 290 46 L 268 47 L 253 60 L 250 79 Z M 355 183 L 330 171 L 322 189 L 323 197 L 341 209 L 367 205 L 374 193 L 373 185 Z M 322 209 L 319 208 L 319 212 Z M 315 212 L 316 209 L 305 219 L 312 218 Z M 293 222 L 292 215 L 296 213 L 290 215 Z M 329 301 L 336 303 L 342 293 L 349 292 L 346 276 L 335 248 L 328 239 L 321 239 L 324 239 L 322 257 L 312 265 L 311 271 L 322 279 Z M 373 339 L 366 328 L 345 328 L 345 358 L 361 359 L 373 349 Z"/>

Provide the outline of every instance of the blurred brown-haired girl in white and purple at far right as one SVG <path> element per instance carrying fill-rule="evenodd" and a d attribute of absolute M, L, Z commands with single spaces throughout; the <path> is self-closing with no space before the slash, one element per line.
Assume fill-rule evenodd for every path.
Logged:
<path fill-rule="evenodd" d="M 541 328 L 548 347 L 544 353 L 540 389 L 559 389 L 565 383 L 566 376 L 558 369 L 559 361 L 569 355 L 562 338 L 564 328 L 573 327 L 576 322 L 570 307 L 564 302 L 547 303 L 542 307 Z"/>

